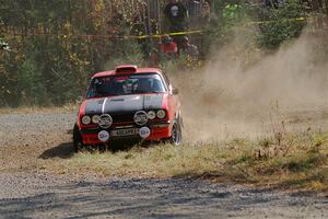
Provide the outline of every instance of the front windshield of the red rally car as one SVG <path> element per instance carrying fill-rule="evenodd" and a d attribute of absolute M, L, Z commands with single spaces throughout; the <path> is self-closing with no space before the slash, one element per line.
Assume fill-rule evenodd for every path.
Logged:
<path fill-rule="evenodd" d="M 165 87 L 157 73 L 108 76 L 92 79 L 87 97 L 162 92 Z"/>

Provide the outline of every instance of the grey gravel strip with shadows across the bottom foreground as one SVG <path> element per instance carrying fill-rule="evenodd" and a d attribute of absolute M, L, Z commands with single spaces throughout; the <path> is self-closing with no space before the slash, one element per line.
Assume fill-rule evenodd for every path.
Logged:
<path fill-rule="evenodd" d="M 0 218 L 328 218 L 327 197 L 199 180 L 2 174 L 0 188 Z"/>

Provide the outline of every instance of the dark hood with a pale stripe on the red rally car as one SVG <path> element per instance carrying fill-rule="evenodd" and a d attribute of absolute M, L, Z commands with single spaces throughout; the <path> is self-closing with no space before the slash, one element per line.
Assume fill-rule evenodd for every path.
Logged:
<path fill-rule="evenodd" d="M 85 100 L 85 114 L 110 114 L 162 108 L 165 94 L 122 95 Z"/>

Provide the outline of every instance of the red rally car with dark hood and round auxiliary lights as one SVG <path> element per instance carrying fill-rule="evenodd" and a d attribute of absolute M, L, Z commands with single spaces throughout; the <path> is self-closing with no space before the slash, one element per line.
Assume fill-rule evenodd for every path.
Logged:
<path fill-rule="evenodd" d="M 73 129 L 74 148 L 120 140 L 181 142 L 178 90 L 156 68 L 118 66 L 91 78 Z"/>

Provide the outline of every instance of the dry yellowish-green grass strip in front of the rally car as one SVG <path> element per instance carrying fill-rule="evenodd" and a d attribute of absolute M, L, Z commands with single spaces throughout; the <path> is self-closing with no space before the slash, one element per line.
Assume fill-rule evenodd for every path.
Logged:
<path fill-rule="evenodd" d="M 328 192 L 328 136 L 305 131 L 263 139 L 85 151 L 43 163 L 57 174 L 202 177 L 286 189 Z"/>

